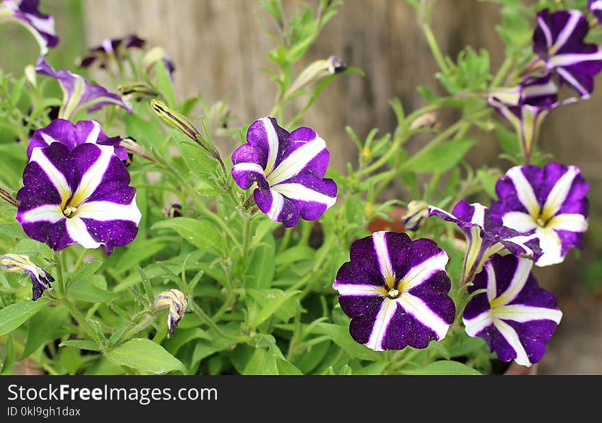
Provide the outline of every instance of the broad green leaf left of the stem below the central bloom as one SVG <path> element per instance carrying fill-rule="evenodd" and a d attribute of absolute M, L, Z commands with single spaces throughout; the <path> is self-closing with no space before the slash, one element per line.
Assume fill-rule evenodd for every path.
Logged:
<path fill-rule="evenodd" d="M 190 244 L 220 257 L 226 251 L 224 235 L 207 219 L 172 218 L 157 222 L 150 229 L 172 229 Z"/>

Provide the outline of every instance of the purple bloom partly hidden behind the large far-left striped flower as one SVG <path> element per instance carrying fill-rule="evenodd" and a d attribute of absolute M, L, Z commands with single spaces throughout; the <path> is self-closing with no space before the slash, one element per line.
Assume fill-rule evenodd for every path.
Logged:
<path fill-rule="evenodd" d="M 73 125 L 68 120 L 55 119 L 47 127 L 38 129 L 34 135 L 29 138 L 27 146 L 27 158 L 31 157 L 31 152 L 37 147 L 47 147 L 53 142 L 60 142 L 73 150 L 75 146 L 86 144 L 101 144 L 112 146 L 115 155 L 120 160 L 127 159 L 127 149 L 120 146 L 120 137 L 107 137 L 101 124 L 96 120 L 80 120 Z"/>

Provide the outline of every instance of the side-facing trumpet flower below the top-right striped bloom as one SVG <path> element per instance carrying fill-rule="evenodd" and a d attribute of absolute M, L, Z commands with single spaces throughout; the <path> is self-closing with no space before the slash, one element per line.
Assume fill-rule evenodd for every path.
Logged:
<path fill-rule="evenodd" d="M 556 107 L 575 101 L 574 98 L 558 100 L 558 87 L 551 81 L 551 74 L 525 77 L 519 86 L 492 90 L 488 97 L 489 104 L 514 127 L 527 162 L 544 118 Z"/>

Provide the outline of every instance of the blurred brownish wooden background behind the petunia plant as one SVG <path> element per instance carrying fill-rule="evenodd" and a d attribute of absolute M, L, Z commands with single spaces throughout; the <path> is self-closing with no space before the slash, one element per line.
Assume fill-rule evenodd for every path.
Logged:
<path fill-rule="evenodd" d="M 285 1 L 288 11 L 301 4 Z M 274 48 L 274 40 L 261 29 L 259 1 L 42 0 L 40 10 L 55 17 L 61 38 L 47 57 L 55 68 L 75 71 L 75 58 L 86 47 L 135 33 L 150 46 L 164 47 L 172 57 L 180 95 L 200 92 L 209 104 L 232 96 L 229 106 L 234 125 L 265 116 L 274 105 L 276 86 L 261 70 L 272 66 L 267 53 Z M 495 73 L 503 60 L 503 44 L 495 31 L 500 19 L 497 4 L 445 0 L 435 8 L 432 28 L 443 53 L 454 59 L 467 45 L 477 51 L 487 49 Z M 0 64 L 5 72 L 22 75 L 27 64 L 35 64 L 38 45 L 25 29 L 1 25 L 0 40 L 4 40 Z M 337 78 L 304 118 L 304 124 L 327 140 L 332 165 L 339 171 L 356 157 L 345 125 L 362 139 L 374 127 L 380 134 L 391 132 L 395 117 L 389 99 L 398 97 L 406 112 L 411 112 L 426 105 L 417 86 L 443 94 L 415 12 L 404 1 L 346 0 L 293 73 L 330 55 L 365 71 L 364 77 Z M 602 77 L 596 84 L 599 88 L 591 99 L 553 112 L 540 134 L 542 151 L 553 153 L 558 162 L 581 168 L 590 183 L 591 207 L 584 250 L 569 253 L 562 265 L 536 268 L 540 284 L 557 296 L 564 312 L 549 351 L 538 365 L 539 374 L 602 374 L 602 218 L 598 213 L 602 209 L 602 148 L 597 120 L 602 110 Z M 441 127 L 454 117 L 453 113 L 438 116 Z M 472 136 L 480 142 L 468 161 L 477 167 L 498 166 L 505 172 L 509 164 L 497 158 L 500 151 L 495 138 L 483 131 Z M 424 142 L 424 138 L 413 138 L 409 148 L 418 149 Z M 236 145 L 233 140 L 222 140 L 221 146 L 222 153 L 229 155 Z M 384 192 L 382 199 L 389 198 L 410 200 L 397 185 Z"/>

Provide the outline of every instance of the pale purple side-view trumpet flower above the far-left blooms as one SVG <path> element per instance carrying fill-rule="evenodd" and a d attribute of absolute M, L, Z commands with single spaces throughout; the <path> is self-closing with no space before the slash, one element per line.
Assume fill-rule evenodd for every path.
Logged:
<path fill-rule="evenodd" d="M 88 112 L 95 112 L 105 105 L 117 105 L 123 107 L 131 113 L 131 107 L 127 105 L 121 97 L 106 88 L 90 84 L 86 77 L 70 73 L 64 69 L 55 71 L 44 59 L 38 60 L 36 72 L 42 75 L 53 77 L 61 86 L 63 91 L 63 102 L 60 108 L 59 117 L 70 120 L 75 116 L 78 110 L 87 109 Z"/>

